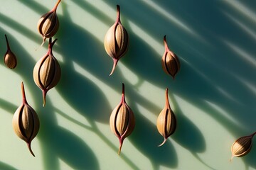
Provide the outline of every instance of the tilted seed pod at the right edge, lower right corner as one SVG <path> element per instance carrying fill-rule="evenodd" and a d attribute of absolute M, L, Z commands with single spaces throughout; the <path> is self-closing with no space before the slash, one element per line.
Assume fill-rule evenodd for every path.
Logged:
<path fill-rule="evenodd" d="M 238 140 L 233 142 L 233 145 L 231 146 L 232 157 L 230 161 L 233 157 L 243 157 L 250 152 L 250 149 L 252 148 L 252 137 L 255 134 L 256 132 L 249 136 L 240 137 Z"/>

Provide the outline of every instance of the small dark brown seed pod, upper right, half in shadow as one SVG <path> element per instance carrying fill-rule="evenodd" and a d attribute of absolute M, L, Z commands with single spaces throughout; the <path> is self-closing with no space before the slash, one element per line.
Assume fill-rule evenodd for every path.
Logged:
<path fill-rule="evenodd" d="M 166 72 L 166 74 L 170 74 L 171 77 L 174 78 L 178 73 L 181 64 L 178 60 L 178 57 L 174 54 L 174 52 L 169 50 L 169 47 L 166 42 L 166 35 L 164 35 L 164 47 L 165 51 L 163 57 L 161 58 L 161 65 L 164 69 L 164 72 Z"/>

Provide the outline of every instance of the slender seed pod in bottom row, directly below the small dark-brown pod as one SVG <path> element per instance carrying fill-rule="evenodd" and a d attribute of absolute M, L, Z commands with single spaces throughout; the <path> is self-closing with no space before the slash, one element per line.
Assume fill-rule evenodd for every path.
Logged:
<path fill-rule="evenodd" d="M 159 116 L 156 120 L 156 127 L 159 133 L 164 137 L 164 141 L 159 145 L 159 147 L 161 147 L 164 145 L 167 138 L 171 136 L 176 130 L 176 118 L 170 107 L 168 89 L 166 89 L 166 104 L 161 113 L 159 113 Z"/>

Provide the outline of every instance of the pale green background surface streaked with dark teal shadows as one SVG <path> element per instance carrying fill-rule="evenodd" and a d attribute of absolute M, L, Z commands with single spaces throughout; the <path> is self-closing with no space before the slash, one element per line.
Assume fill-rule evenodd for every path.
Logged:
<path fill-rule="evenodd" d="M 32 71 L 47 43 L 39 47 L 36 26 L 54 4 L 1 0 L 0 53 L 6 52 L 7 34 L 18 66 L 0 64 L 0 169 L 255 169 L 255 147 L 229 162 L 232 143 L 256 130 L 255 1 L 63 0 L 53 47 L 62 77 L 43 108 Z M 109 77 L 112 59 L 103 40 L 116 4 L 130 45 Z M 175 80 L 161 69 L 164 35 L 181 60 Z M 31 144 L 36 157 L 11 125 L 21 105 L 21 81 L 41 120 Z M 109 118 L 122 82 L 137 124 L 118 156 Z M 156 147 L 163 140 L 156 118 L 166 87 L 178 127 Z"/>

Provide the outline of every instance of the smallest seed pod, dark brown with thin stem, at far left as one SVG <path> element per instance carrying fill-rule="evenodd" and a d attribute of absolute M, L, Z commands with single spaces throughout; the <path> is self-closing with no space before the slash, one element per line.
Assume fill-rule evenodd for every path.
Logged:
<path fill-rule="evenodd" d="M 16 59 L 16 56 L 14 55 L 14 52 L 11 51 L 7 35 L 4 35 L 4 36 L 6 38 L 6 44 L 7 44 L 7 51 L 4 55 L 4 64 L 6 64 L 6 66 L 9 67 L 10 69 L 14 69 L 17 65 L 17 59 Z"/>

